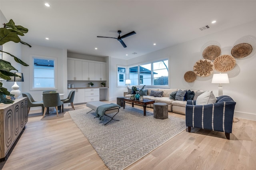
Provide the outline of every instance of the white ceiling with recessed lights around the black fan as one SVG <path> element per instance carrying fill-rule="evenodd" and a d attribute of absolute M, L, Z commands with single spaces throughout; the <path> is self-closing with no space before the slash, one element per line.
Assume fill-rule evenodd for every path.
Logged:
<path fill-rule="evenodd" d="M 50 7 L 44 6 L 45 2 Z M 21 37 L 24 42 L 121 59 L 254 21 L 255 8 L 255 0 L 0 0 L 5 18 L 28 28 Z M 211 24 L 212 20 L 217 22 Z M 199 30 L 206 25 L 210 28 Z M 120 36 L 137 33 L 123 39 L 126 48 L 115 39 L 97 38 L 117 38 L 118 30 Z"/>

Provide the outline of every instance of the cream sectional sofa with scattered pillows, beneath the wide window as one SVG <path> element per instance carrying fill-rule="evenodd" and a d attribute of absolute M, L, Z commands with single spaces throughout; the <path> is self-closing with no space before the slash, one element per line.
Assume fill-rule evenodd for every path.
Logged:
<path fill-rule="evenodd" d="M 172 111 L 174 113 L 181 113 L 185 115 L 187 101 L 178 101 L 178 100 L 173 100 L 169 98 L 172 92 L 178 91 L 179 89 L 160 89 L 160 88 L 159 89 L 145 88 L 145 89 L 148 90 L 148 92 L 147 92 L 147 95 L 143 96 L 143 99 L 150 99 L 150 100 L 154 100 L 155 102 L 166 103 L 168 105 L 168 111 L 170 112 Z M 164 92 L 163 97 L 150 96 L 151 90 L 163 91 Z M 127 92 L 124 92 L 124 96 L 127 98 L 130 98 L 132 95 L 127 94 Z M 148 105 L 147 107 L 153 108 L 153 104 Z"/>

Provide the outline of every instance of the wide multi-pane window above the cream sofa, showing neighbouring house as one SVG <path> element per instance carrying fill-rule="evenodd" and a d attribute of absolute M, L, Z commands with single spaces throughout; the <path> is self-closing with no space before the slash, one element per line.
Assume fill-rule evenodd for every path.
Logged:
<path fill-rule="evenodd" d="M 130 85 L 166 86 L 168 85 L 168 77 L 168 59 L 129 67 Z"/>

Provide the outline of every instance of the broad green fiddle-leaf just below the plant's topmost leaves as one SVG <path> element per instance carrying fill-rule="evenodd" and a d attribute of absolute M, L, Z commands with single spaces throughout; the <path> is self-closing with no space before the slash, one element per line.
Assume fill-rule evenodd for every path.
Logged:
<path fill-rule="evenodd" d="M 0 28 L 0 45 L 3 45 L 9 41 L 18 43 L 20 42 L 20 38 L 16 32 L 11 32 L 7 28 Z"/>

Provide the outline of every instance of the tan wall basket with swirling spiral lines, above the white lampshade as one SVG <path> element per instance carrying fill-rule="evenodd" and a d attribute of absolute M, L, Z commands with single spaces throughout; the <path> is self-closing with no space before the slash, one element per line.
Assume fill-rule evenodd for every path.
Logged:
<path fill-rule="evenodd" d="M 236 59 L 231 55 L 220 55 L 214 60 L 215 70 L 219 72 L 227 72 L 232 70 L 236 65 Z"/>

